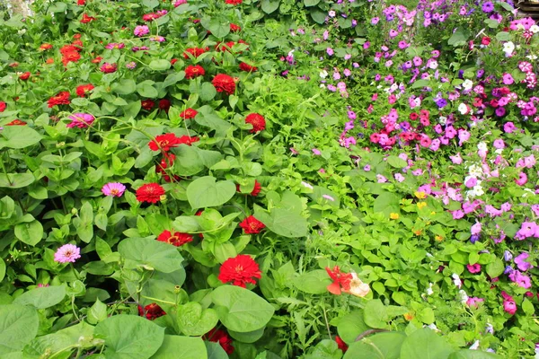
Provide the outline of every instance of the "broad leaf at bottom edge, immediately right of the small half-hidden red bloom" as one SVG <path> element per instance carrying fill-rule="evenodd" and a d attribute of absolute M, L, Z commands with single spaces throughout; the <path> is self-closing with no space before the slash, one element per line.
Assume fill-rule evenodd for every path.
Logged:
<path fill-rule="evenodd" d="M 406 335 L 399 332 L 365 337 L 349 346 L 343 359 L 399 359 L 404 339 Z"/>

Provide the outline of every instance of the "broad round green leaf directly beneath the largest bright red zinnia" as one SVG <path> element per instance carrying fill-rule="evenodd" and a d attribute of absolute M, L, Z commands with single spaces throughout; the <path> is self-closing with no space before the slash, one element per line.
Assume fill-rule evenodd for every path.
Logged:
<path fill-rule="evenodd" d="M 219 320 L 226 328 L 245 333 L 263 328 L 273 316 L 273 306 L 250 290 L 222 285 L 211 294 Z"/>

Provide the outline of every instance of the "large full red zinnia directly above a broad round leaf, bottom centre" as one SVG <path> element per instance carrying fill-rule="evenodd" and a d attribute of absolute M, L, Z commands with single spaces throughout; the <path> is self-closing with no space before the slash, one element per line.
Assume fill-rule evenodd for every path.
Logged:
<path fill-rule="evenodd" d="M 261 271 L 258 264 L 246 254 L 239 254 L 234 258 L 228 258 L 219 269 L 217 278 L 223 283 L 232 282 L 245 288 L 246 283 L 256 285 L 253 278 L 261 278 Z"/>

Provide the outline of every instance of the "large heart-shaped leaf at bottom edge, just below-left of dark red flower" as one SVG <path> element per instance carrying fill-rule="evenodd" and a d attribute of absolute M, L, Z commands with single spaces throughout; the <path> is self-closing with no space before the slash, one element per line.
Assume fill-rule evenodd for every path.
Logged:
<path fill-rule="evenodd" d="M 147 359 L 163 343 L 164 328 L 135 315 L 115 315 L 99 323 L 95 337 L 105 339 L 107 359 Z"/>

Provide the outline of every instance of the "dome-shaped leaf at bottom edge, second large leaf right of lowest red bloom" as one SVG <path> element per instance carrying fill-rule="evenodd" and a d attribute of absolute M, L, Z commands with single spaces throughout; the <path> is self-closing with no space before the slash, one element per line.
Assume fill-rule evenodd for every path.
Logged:
<path fill-rule="evenodd" d="M 443 337 L 429 328 L 421 328 L 404 340 L 401 359 L 447 359 L 454 352 Z"/>

